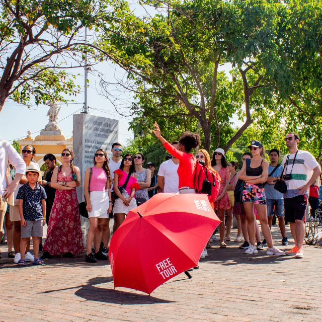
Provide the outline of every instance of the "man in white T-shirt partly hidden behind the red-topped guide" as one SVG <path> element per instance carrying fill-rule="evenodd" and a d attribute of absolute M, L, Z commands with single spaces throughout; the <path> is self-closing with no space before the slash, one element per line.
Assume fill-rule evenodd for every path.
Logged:
<path fill-rule="evenodd" d="M 171 144 L 177 147 L 178 142 L 172 142 Z M 162 192 L 177 193 L 179 191 L 178 167 L 179 160 L 174 156 L 160 165 L 157 173 L 157 185 Z"/>

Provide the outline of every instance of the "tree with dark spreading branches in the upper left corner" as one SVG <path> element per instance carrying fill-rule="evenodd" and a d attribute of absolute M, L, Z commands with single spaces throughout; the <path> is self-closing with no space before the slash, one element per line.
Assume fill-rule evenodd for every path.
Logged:
<path fill-rule="evenodd" d="M 79 93 L 66 70 L 95 62 L 86 27 L 113 22 L 123 3 L 110 0 L 0 0 L 0 112 L 8 98 L 27 104 Z M 113 2 L 114 4 L 114 2 Z M 125 6 L 126 7 L 126 6 Z M 107 28 L 107 27 L 105 27 Z"/>

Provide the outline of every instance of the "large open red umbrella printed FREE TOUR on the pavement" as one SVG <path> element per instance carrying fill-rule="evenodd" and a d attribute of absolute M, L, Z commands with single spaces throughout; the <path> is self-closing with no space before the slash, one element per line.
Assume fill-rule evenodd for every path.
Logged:
<path fill-rule="evenodd" d="M 207 195 L 160 193 L 129 211 L 111 239 L 114 287 L 150 294 L 198 265 L 220 220 Z"/>

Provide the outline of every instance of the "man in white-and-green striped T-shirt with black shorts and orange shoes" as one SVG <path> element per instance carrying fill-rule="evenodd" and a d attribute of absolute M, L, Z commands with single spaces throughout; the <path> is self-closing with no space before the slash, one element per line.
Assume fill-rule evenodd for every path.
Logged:
<path fill-rule="evenodd" d="M 287 185 L 284 194 L 285 221 L 290 223 L 295 246 L 286 255 L 303 258 L 303 240 L 305 235 L 305 213 L 309 186 L 315 182 L 321 169 L 313 155 L 308 151 L 299 150 L 299 136 L 288 133 L 285 137 L 290 153 L 283 158 L 283 180 Z"/>

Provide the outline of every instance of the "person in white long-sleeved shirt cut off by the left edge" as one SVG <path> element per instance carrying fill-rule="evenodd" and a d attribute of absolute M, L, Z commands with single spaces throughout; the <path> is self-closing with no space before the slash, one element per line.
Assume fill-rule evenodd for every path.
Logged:
<path fill-rule="evenodd" d="M 9 163 L 16 169 L 15 178 L 11 184 L 8 182 L 11 179 Z M 26 164 L 15 148 L 9 142 L 0 140 L 0 240 L 4 234 L 7 199 L 14 193 L 25 172 Z"/>

